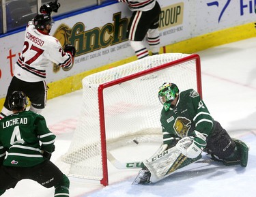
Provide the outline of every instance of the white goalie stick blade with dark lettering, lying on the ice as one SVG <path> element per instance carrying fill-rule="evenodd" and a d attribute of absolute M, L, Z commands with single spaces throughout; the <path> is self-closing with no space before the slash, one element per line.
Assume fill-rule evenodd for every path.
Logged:
<path fill-rule="evenodd" d="M 107 158 L 117 169 L 141 168 L 142 162 L 119 162 L 109 151 L 106 151 Z"/>

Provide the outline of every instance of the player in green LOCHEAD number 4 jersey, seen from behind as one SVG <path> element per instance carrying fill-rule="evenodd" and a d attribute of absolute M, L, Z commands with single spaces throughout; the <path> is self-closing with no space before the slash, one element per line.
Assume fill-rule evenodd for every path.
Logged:
<path fill-rule="evenodd" d="M 13 114 L 0 121 L 0 196 L 23 179 L 55 187 L 55 196 L 69 196 L 68 177 L 50 161 L 56 136 L 44 117 L 26 111 L 27 97 L 22 91 L 12 93 L 9 105 Z"/>

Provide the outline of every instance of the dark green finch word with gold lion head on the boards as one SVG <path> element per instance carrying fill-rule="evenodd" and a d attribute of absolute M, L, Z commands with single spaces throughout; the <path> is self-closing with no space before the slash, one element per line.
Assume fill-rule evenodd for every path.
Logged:
<path fill-rule="evenodd" d="M 113 14 L 113 23 L 107 23 L 103 27 L 95 27 L 85 31 L 85 24 L 83 22 L 76 22 L 70 28 L 66 24 L 61 24 L 53 34 L 61 46 L 65 44 L 72 44 L 76 48 L 76 57 L 85 55 L 89 52 L 94 52 L 107 46 L 120 44 L 128 40 L 126 31 L 128 29 L 128 18 L 121 18 L 122 12 Z M 100 56 L 97 53 L 96 56 Z M 60 67 L 57 65 L 54 68 L 58 72 Z"/>

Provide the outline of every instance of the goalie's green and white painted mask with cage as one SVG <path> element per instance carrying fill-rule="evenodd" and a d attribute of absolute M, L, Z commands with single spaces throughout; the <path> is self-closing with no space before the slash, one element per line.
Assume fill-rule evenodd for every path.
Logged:
<path fill-rule="evenodd" d="M 177 85 L 170 82 L 165 82 L 163 85 L 160 86 L 158 91 L 158 98 L 160 103 L 164 105 L 165 110 L 169 110 L 171 107 L 171 102 L 175 100 L 175 97 L 179 95 L 179 89 Z M 173 108 L 173 106 L 172 106 Z"/>

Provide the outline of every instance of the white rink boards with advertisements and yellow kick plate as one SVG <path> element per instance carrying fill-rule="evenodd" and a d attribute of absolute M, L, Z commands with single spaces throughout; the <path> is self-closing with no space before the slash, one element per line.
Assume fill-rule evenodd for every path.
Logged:
<path fill-rule="evenodd" d="M 256 35 L 256 0 L 158 2 L 162 7 L 160 53 L 196 53 Z M 136 60 L 126 38 L 130 16 L 126 4 L 112 3 L 55 18 L 51 34 L 62 45 L 74 44 L 76 57 L 69 72 L 54 64 L 48 67 L 48 99 L 81 89 L 81 80 L 89 74 Z M 24 34 L 23 29 L 0 37 L 0 107 L 23 49 Z"/>

